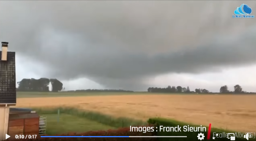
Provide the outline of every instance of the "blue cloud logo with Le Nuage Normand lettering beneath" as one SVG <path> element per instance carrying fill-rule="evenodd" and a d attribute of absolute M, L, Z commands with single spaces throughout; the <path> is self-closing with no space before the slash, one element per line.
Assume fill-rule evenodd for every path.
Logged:
<path fill-rule="evenodd" d="M 251 12 L 252 10 L 248 5 L 242 4 L 234 11 L 235 15 L 232 15 L 232 18 L 254 18 L 254 15 L 250 15 Z"/>

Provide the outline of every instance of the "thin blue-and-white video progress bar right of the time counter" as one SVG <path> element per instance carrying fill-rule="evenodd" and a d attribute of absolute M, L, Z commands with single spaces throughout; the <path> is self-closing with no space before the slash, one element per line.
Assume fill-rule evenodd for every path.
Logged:
<path fill-rule="evenodd" d="M 41 138 L 186 138 L 186 136 L 41 136 Z"/>

